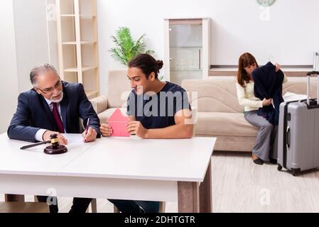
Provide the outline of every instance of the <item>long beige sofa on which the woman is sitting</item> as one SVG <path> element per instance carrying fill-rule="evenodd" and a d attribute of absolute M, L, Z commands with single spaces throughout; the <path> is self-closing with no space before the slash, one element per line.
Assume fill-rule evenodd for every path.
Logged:
<path fill-rule="evenodd" d="M 190 93 L 197 109 L 195 135 L 217 137 L 215 150 L 252 151 L 258 128 L 244 119 L 239 106 L 235 77 L 186 79 L 182 87 Z M 316 80 L 311 81 L 310 96 L 316 96 Z M 193 97 L 192 92 L 197 92 Z M 283 94 L 306 94 L 306 78 L 291 78 L 283 84 Z"/>

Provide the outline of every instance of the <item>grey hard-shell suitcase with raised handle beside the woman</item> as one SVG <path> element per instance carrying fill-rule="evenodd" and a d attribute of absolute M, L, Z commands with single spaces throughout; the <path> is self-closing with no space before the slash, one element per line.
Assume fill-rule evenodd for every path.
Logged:
<path fill-rule="evenodd" d="M 307 74 L 307 99 L 283 102 L 279 106 L 278 170 L 285 167 L 293 176 L 319 167 L 319 86 L 317 99 L 309 98 L 310 75 Z"/>

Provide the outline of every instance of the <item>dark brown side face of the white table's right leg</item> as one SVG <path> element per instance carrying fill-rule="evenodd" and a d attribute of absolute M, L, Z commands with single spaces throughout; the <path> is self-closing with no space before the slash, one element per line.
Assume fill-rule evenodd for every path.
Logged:
<path fill-rule="evenodd" d="M 200 213 L 212 213 L 212 167 L 207 167 L 204 182 L 200 184 Z"/>

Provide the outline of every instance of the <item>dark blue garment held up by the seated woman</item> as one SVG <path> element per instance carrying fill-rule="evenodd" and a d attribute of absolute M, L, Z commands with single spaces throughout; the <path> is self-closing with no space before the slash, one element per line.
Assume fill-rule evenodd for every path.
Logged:
<path fill-rule="evenodd" d="M 252 72 L 254 79 L 254 95 L 263 100 L 273 99 L 274 106 L 264 106 L 259 108 L 258 115 L 264 116 L 270 123 L 277 126 L 279 123 L 279 105 L 283 102 L 283 72 L 276 72 L 276 66 L 271 62 L 256 68 Z"/>

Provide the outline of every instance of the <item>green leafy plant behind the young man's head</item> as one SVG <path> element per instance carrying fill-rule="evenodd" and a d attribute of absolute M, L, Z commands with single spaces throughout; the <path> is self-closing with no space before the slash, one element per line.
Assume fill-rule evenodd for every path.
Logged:
<path fill-rule="evenodd" d="M 153 54 L 153 50 L 146 50 L 146 43 L 144 43 L 145 34 L 137 40 L 131 36 L 131 31 L 126 27 L 119 27 L 115 36 L 111 35 L 116 47 L 111 48 L 111 56 L 114 60 L 121 62 L 123 65 L 128 65 L 129 61 L 140 53 Z"/>

